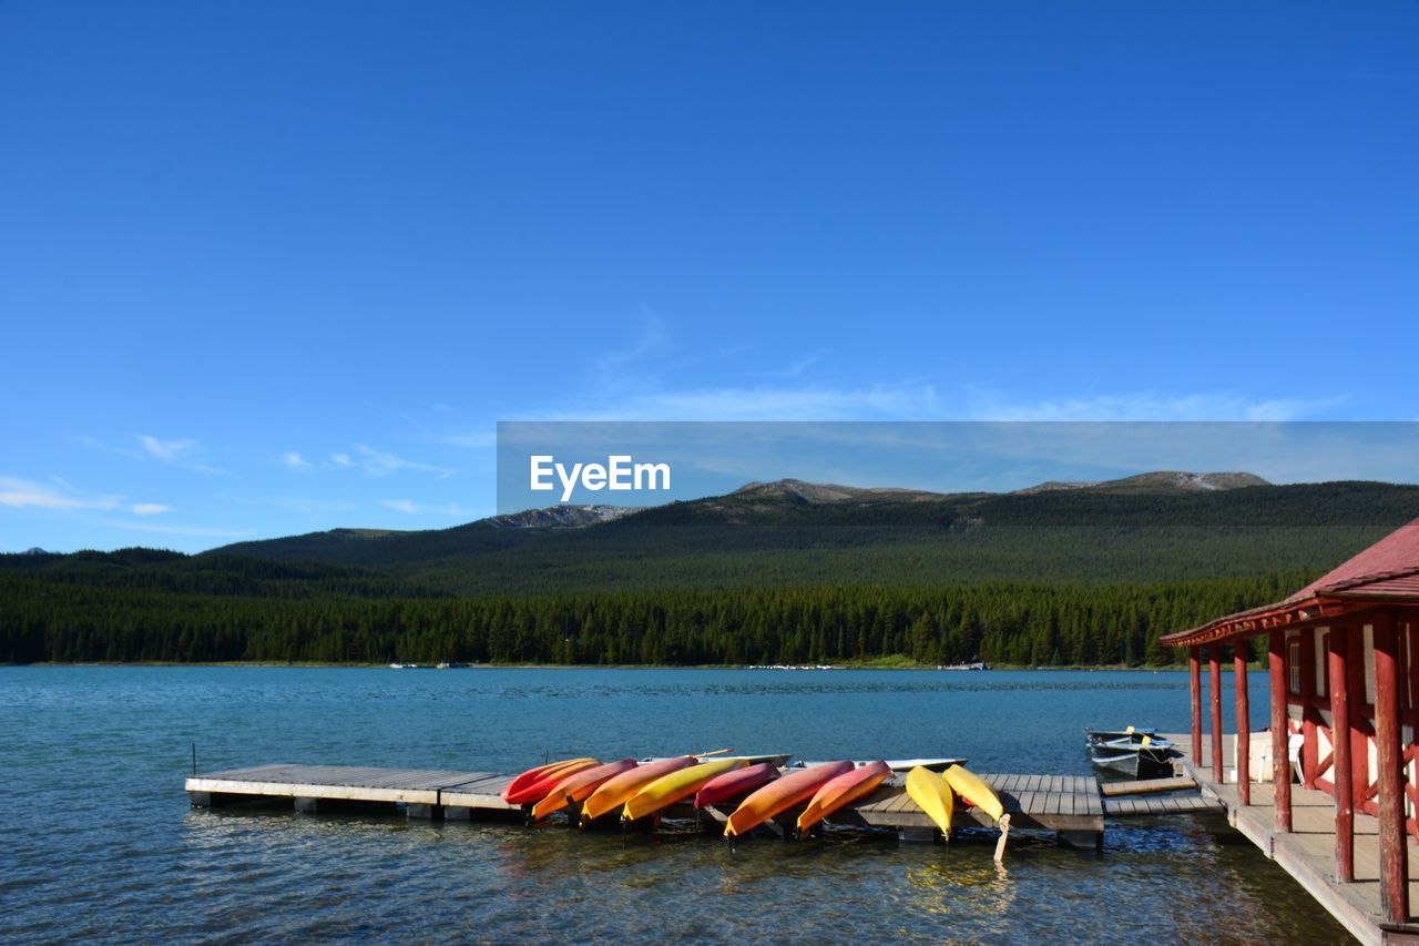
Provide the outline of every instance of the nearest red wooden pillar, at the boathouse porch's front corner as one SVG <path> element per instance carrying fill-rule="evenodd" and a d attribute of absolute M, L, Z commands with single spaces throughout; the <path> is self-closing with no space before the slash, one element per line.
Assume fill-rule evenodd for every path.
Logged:
<path fill-rule="evenodd" d="M 1403 753 L 1399 744 L 1399 635 L 1392 614 L 1376 615 L 1375 767 L 1379 778 L 1379 909 L 1392 923 L 1409 919 L 1405 849 Z"/>

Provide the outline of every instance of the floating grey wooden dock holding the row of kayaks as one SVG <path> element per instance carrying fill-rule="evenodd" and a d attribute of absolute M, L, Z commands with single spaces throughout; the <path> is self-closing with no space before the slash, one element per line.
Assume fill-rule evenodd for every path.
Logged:
<path fill-rule="evenodd" d="M 294 804 L 298 811 L 314 812 L 399 805 L 416 818 L 473 820 L 521 817 L 522 808 L 501 798 L 512 778 L 511 774 L 431 768 L 270 764 L 192 776 L 186 790 L 196 807 L 264 801 Z M 1051 831 L 1074 847 L 1101 847 L 1105 817 L 1185 814 L 1218 807 L 1196 794 L 1110 798 L 1100 791 L 1097 780 L 1080 776 L 989 774 L 982 778 L 1000 795 L 1013 828 Z M 667 814 L 692 815 L 692 810 L 680 807 Z M 797 811 L 792 814 L 796 817 Z M 790 818 L 785 821 L 792 824 Z M 833 821 L 890 828 L 905 838 L 929 838 L 935 831 L 931 818 L 907 795 L 901 776 L 890 778 L 850 810 L 837 812 Z M 979 810 L 962 805 L 952 827 L 990 824 Z"/>

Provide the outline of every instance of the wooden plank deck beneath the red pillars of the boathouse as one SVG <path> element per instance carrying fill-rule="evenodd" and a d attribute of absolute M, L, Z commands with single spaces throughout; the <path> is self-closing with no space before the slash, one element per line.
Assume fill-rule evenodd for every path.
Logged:
<path fill-rule="evenodd" d="M 1385 923 L 1379 908 L 1379 820 L 1355 811 L 1355 882 L 1335 879 L 1335 800 L 1291 784 L 1291 831 L 1277 831 L 1270 783 L 1252 783 L 1243 805 L 1235 781 L 1218 783 L 1212 766 L 1192 761 L 1189 736 L 1168 736 L 1183 751 L 1182 768 L 1202 793 L 1226 810 L 1227 821 L 1290 874 L 1362 943 L 1419 942 L 1419 923 Z M 1223 736 L 1222 757 L 1233 759 L 1236 736 Z M 1406 845 L 1409 876 L 1419 878 L 1419 848 Z M 1419 903 L 1419 879 L 1409 882 L 1409 902 Z"/>

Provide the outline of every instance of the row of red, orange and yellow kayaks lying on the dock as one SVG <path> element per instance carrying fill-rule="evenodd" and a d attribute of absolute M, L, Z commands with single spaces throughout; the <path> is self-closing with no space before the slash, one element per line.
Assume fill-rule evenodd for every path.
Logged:
<path fill-rule="evenodd" d="M 717 814 L 727 814 L 727 838 L 746 835 L 769 820 L 797 811 L 793 830 L 802 835 L 834 812 L 863 801 L 895 770 L 905 767 L 910 768 L 907 794 L 946 837 L 956 798 L 995 822 L 1005 814 L 995 790 L 956 760 L 843 760 L 797 767 L 783 766 L 785 761 L 783 756 L 675 756 L 610 763 L 566 759 L 522 773 L 502 791 L 502 800 L 522 807 L 529 821 L 566 810 L 583 828 L 617 811 L 623 824 L 631 824 L 658 818 L 671 805 L 692 805 L 695 811 L 715 808 Z M 934 771 L 935 767 L 942 771 Z"/>

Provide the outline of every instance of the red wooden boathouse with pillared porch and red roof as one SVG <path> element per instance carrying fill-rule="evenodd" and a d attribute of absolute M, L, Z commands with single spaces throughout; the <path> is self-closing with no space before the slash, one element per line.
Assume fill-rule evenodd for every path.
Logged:
<path fill-rule="evenodd" d="M 1271 798 L 1273 838 L 1294 828 L 1293 795 L 1334 800 L 1337 892 L 1354 886 L 1357 817 L 1364 844 L 1378 839 L 1378 923 L 1412 932 L 1409 842 L 1419 839 L 1419 520 L 1403 526 L 1288 598 L 1226 615 L 1164 643 L 1188 648 L 1192 690 L 1192 759 L 1196 771 L 1250 810 L 1253 795 Z M 1247 722 L 1247 645 L 1264 642 L 1270 669 L 1270 739 L 1253 741 Z M 1237 732 L 1235 756 L 1223 759 L 1222 673 L 1233 660 Z M 1202 739 L 1202 663 L 1210 678 L 1210 773 Z M 1227 740 L 1232 743 L 1232 739 Z M 1252 756 L 1269 756 L 1257 771 Z M 1235 776 L 1226 778 L 1229 761 Z M 1250 776 L 1250 777 L 1249 777 Z M 1298 788 L 1293 791 L 1293 780 Z M 1253 790 L 1253 783 L 1271 783 Z M 1308 814 L 1317 814 L 1314 807 Z M 1330 810 L 1325 810 L 1327 820 Z M 1328 825 L 1327 825 L 1328 827 Z M 1310 830 L 1310 828 L 1308 828 Z M 1270 851 L 1267 851 L 1270 854 Z M 1293 871 L 1294 874 L 1294 871 Z M 1313 891 L 1315 892 L 1315 891 Z"/>

